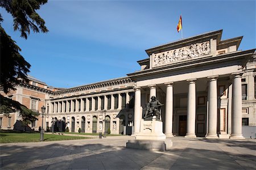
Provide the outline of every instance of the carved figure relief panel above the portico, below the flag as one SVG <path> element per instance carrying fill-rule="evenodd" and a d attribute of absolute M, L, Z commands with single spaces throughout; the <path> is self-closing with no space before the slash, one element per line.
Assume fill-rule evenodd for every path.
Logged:
<path fill-rule="evenodd" d="M 193 57 L 199 57 L 210 54 L 210 42 L 200 42 L 196 44 L 191 44 L 184 46 L 182 48 L 169 50 L 167 52 L 162 52 L 155 54 L 153 57 L 153 65 L 159 66 L 166 63 L 180 61 L 182 59 L 189 59 Z"/>

